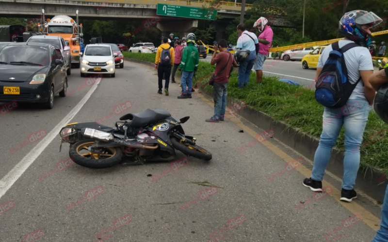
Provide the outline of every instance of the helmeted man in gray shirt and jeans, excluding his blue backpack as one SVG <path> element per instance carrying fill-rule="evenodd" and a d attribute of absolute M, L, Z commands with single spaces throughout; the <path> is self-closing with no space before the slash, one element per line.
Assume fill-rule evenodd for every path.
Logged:
<path fill-rule="evenodd" d="M 373 74 L 372 56 L 367 46 L 371 45 L 370 28 L 383 20 L 372 12 L 356 10 L 346 13 L 339 21 L 339 33 L 345 37 L 339 41 L 339 48 L 349 43 L 360 46 L 346 51 L 344 55 L 348 77 L 352 84 L 361 77 L 345 106 L 340 108 L 325 107 L 323 111 L 323 130 L 318 149 L 315 151 L 311 178 L 306 178 L 303 185 L 314 192 L 323 192 L 322 180 L 325 168 L 330 160 L 331 150 L 336 144 L 339 131 L 345 128 L 344 174 L 342 178 L 341 201 L 351 202 L 357 197 L 357 171 L 360 165 L 360 146 L 368 121 L 368 114 L 373 104 L 375 91 L 369 82 Z M 318 77 L 327 61 L 332 45 L 327 46 L 319 58 Z"/>

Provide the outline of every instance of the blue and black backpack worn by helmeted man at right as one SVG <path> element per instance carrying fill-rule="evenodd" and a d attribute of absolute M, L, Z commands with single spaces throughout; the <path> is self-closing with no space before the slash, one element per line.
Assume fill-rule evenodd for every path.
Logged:
<path fill-rule="evenodd" d="M 346 105 L 361 80 L 360 77 L 355 84 L 350 83 L 343 53 L 360 45 L 349 43 L 339 48 L 338 42 L 335 42 L 331 46 L 333 50 L 315 82 L 315 99 L 323 106 L 339 108 Z"/>

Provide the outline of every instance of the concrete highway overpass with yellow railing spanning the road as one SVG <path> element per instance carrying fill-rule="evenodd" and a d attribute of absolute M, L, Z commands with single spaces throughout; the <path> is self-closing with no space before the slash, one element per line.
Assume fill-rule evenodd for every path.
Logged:
<path fill-rule="evenodd" d="M 42 9 L 45 9 L 47 17 L 54 15 L 75 17 L 76 10 L 79 10 L 80 18 L 84 19 L 146 19 L 156 15 L 158 3 L 202 9 L 210 6 L 209 1 L 203 0 L 0 0 L 0 17 L 35 18 L 42 14 Z M 252 5 L 246 4 L 245 9 L 250 7 Z M 240 16 L 241 3 L 221 1 L 217 12 L 221 18 L 216 20 L 213 26 L 216 26 L 218 37 L 221 37 L 227 22 Z M 195 30 L 198 25 L 198 20 L 194 18 L 162 16 L 161 19 L 157 27 L 163 34 L 179 30 L 183 36 Z M 293 27 L 287 18 L 279 15 L 274 15 L 272 25 Z"/>

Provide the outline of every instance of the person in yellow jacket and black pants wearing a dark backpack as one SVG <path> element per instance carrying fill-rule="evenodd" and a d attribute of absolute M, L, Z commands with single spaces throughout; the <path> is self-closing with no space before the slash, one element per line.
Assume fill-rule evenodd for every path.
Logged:
<path fill-rule="evenodd" d="M 171 67 L 174 64 L 174 58 L 174 48 L 171 47 L 170 44 L 168 44 L 168 38 L 164 37 L 163 44 L 159 45 L 155 57 L 155 69 L 158 69 L 158 94 L 162 94 L 164 77 L 164 93 L 166 94 L 166 96 L 168 96 L 168 84 L 170 83 Z"/>

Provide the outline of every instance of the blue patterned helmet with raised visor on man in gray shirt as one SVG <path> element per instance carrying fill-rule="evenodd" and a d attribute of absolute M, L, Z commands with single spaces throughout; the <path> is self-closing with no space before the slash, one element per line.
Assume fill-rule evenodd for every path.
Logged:
<path fill-rule="evenodd" d="M 372 44 L 371 28 L 380 25 L 383 20 L 372 12 L 354 10 L 339 20 L 338 31 L 356 44 L 368 47 Z"/>

